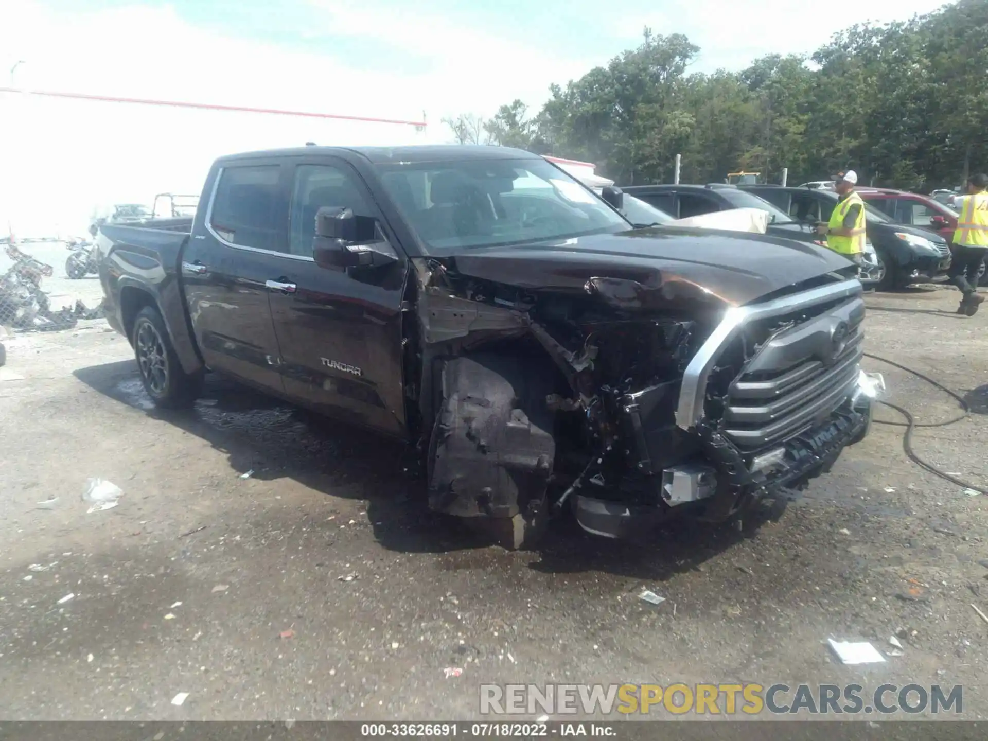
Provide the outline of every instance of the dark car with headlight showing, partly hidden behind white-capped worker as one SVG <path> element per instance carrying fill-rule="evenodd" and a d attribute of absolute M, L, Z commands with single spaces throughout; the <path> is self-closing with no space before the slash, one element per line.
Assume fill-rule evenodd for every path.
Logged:
<path fill-rule="evenodd" d="M 778 206 L 801 223 L 830 220 L 837 194 L 823 188 L 743 186 L 744 190 Z M 950 249 L 937 234 L 892 221 L 874 206 L 865 204 L 867 238 L 874 245 L 881 265 L 875 288 L 904 288 L 912 283 L 942 276 L 950 267 Z"/>

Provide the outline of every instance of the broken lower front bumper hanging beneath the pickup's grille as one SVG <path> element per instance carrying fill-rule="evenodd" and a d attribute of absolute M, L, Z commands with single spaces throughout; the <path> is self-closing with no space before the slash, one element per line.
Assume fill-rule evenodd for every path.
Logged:
<path fill-rule="evenodd" d="M 702 429 L 702 448 L 709 462 L 663 469 L 665 506 L 630 505 L 576 494 L 576 520 L 588 533 L 611 538 L 645 535 L 686 510 L 702 508 L 701 519 L 723 520 L 745 500 L 777 495 L 827 472 L 845 448 L 867 436 L 873 403 L 884 390 L 880 373 L 859 371 L 854 391 L 823 424 L 757 455 L 746 456 L 722 435 Z"/>

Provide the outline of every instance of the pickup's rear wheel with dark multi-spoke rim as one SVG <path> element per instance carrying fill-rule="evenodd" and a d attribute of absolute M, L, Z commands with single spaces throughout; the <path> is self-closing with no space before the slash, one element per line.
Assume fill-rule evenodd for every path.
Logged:
<path fill-rule="evenodd" d="M 203 390 L 203 373 L 182 370 L 165 320 L 153 306 L 145 306 L 133 322 L 130 334 L 140 381 L 156 407 L 180 409 L 192 406 Z"/>

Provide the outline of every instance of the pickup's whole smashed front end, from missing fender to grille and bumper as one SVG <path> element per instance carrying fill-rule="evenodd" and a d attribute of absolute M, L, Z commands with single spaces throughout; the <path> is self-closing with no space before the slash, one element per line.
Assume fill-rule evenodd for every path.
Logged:
<path fill-rule="evenodd" d="M 683 512 L 722 521 L 866 433 L 851 271 L 750 311 L 629 279 L 549 292 L 464 276 L 455 261 L 416 269 L 436 510 L 524 530 L 569 506 L 611 537 Z"/>

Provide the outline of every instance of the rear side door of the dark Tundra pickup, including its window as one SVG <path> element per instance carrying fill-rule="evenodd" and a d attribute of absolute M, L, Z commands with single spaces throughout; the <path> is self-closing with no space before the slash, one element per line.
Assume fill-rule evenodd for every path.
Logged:
<path fill-rule="evenodd" d="M 212 176 L 206 212 L 182 253 L 193 331 L 213 371 L 283 391 L 267 281 L 286 241 L 283 167 L 271 159 L 235 160 Z"/>

